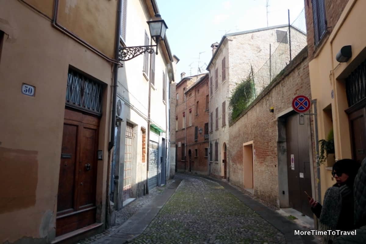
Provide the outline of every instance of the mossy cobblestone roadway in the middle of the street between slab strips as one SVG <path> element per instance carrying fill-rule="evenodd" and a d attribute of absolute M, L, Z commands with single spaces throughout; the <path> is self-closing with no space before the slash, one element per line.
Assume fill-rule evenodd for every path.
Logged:
<path fill-rule="evenodd" d="M 279 230 L 224 187 L 203 178 L 182 178 L 142 235 L 129 243 L 286 243 Z"/>

